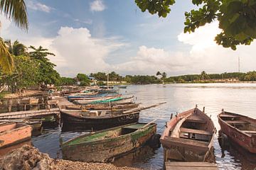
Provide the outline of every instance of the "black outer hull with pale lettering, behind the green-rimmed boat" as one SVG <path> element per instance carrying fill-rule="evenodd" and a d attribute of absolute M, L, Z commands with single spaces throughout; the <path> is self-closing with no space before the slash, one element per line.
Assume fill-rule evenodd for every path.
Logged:
<path fill-rule="evenodd" d="M 78 125 L 88 129 L 112 128 L 118 125 L 137 123 L 139 112 L 110 116 L 79 117 L 60 111 L 63 125 Z"/>

